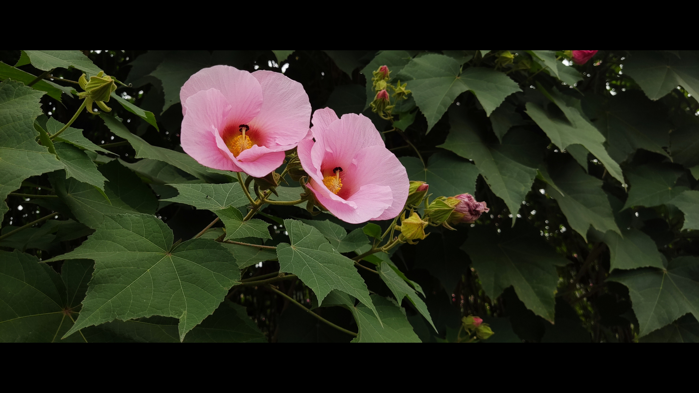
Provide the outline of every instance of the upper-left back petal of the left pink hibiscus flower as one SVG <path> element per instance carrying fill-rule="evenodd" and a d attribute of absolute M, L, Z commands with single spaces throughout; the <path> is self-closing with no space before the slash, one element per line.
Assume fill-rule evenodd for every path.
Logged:
<path fill-rule="evenodd" d="M 257 116 L 262 107 L 262 88 L 257 79 L 247 71 L 231 66 L 212 66 L 189 77 L 180 90 L 182 115 L 187 114 L 185 102 L 202 90 L 217 89 L 231 104 L 231 117 L 247 124 Z M 308 99 L 306 99 L 308 101 Z"/>

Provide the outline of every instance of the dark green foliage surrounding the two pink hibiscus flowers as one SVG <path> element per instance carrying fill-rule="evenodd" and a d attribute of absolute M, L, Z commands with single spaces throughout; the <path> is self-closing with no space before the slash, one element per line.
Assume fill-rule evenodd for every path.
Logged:
<path fill-rule="evenodd" d="M 370 255 L 391 220 L 251 213 L 180 147 L 180 87 L 219 64 L 365 115 L 428 201 L 489 211 Z M 393 122 L 384 65 L 411 91 Z M 54 136 L 99 71 L 127 84 L 112 110 Z M 697 342 L 698 81 L 682 50 L 0 51 L 0 341 Z M 468 315 L 495 334 L 465 340 Z"/>

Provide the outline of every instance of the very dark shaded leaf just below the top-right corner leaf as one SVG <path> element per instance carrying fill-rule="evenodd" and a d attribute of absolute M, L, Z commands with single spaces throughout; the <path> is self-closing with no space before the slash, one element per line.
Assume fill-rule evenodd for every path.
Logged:
<path fill-rule="evenodd" d="M 583 105 L 591 107 L 593 124 L 607 138 L 607 151 L 615 161 L 626 161 L 637 149 L 668 156 L 663 148 L 670 146 L 672 124 L 661 103 L 654 103 L 641 92 L 631 90 L 606 102 L 590 97 Z"/>

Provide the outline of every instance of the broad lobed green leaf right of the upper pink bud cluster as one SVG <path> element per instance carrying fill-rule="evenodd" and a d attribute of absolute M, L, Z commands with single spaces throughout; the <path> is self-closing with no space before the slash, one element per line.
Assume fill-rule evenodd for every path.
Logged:
<path fill-rule="evenodd" d="M 504 73 L 470 67 L 461 72 L 461 64 L 445 55 L 428 54 L 412 59 L 401 75 L 427 118 L 427 131 L 444 115 L 459 94 L 470 90 L 490 115 L 505 97 L 521 92 L 519 85 Z"/>

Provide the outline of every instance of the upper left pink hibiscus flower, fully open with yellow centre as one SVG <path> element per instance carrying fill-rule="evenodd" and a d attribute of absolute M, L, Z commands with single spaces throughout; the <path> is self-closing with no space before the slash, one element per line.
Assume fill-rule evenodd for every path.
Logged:
<path fill-rule="evenodd" d="M 182 149 L 210 168 L 261 178 L 308 134 L 308 95 L 281 73 L 212 66 L 187 80 L 180 101 Z"/>

